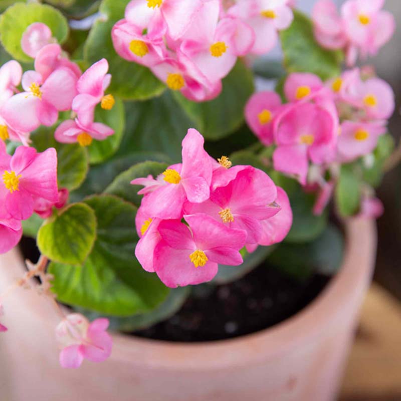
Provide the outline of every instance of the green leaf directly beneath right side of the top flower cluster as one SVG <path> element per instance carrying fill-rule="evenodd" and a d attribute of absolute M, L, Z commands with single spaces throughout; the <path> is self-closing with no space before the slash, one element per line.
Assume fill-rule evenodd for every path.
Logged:
<path fill-rule="evenodd" d="M 244 123 L 244 107 L 253 91 L 253 74 L 239 60 L 223 79 L 222 93 L 216 99 L 196 103 L 179 92 L 174 92 L 174 97 L 206 139 L 218 140 L 230 135 Z"/>

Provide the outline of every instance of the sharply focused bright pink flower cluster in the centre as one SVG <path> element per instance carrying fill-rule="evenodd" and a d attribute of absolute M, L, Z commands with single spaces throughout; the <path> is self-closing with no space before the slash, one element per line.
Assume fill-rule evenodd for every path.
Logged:
<path fill-rule="evenodd" d="M 182 163 L 156 179 L 132 181 L 144 185 L 135 255 L 168 287 L 210 281 L 219 264 L 242 264 L 244 246 L 252 252 L 287 235 L 292 212 L 285 191 L 265 172 L 231 164 L 226 156 L 211 158 L 202 135 L 189 129 Z"/>

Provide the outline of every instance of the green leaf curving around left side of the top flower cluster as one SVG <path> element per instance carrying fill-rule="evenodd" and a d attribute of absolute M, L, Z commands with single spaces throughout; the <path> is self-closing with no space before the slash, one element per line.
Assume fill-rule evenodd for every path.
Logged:
<path fill-rule="evenodd" d="M 129 0 L 103 0 L 100 16 L 93 24 L 84 48 L 85 60 L 90 64 L 105 58 L 112 75 L 110 93 L 126 100 L 144 100 L 160 95 L 165 86 L 148 68 L 122 59 L 114 50 L 111 29 L 124 18 Z"/>

